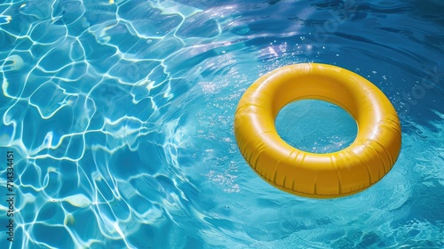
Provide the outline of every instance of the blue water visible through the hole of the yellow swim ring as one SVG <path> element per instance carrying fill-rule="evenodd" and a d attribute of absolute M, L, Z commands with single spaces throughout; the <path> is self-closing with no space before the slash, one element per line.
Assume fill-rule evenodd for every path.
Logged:
<path fill-rule="evenodd" d="M 281 108 L 276 130 L 289 145 L 307 152 L 330 153 L 353 143 L 358 128 L 345 109 L 322 100 L 297 100 Z"/>

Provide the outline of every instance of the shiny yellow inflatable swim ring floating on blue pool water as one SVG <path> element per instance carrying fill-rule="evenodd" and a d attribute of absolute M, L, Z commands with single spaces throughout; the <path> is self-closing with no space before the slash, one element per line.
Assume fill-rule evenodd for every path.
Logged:
<path fill-rule="evenodd" d="M 344 108 L 358 125 L 353 143 L 335 153 L 291 147 L 275 118 L 295 100 L 325 100 Z M 242 156 L 264 180 L 303 197 L 344 197 L 381 180 L 400 153 L 400 121 L 377 86 L 344 68 L 304 63 L 275 69 L 243 94 L 234 115 Z"/>

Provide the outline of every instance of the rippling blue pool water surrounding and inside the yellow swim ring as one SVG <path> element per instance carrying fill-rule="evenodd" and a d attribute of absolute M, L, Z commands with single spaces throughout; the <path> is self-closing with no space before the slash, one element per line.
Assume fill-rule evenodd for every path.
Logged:
<path fill-rule="evenodd" d="M 0 1 L 0 247 L 444 247 L 438 4 Z M 351 197 L 274 189 L 234 140 L 246 88 L 313 61 L 368 78 L 400 116 L 396 165 Z M 347 118 L 308 101 L 282 110 L 277 126 L 289 143 L 325 152 L 353 141 Z"/>

